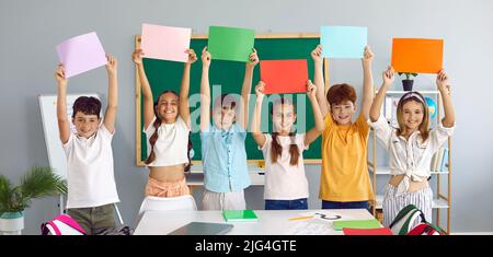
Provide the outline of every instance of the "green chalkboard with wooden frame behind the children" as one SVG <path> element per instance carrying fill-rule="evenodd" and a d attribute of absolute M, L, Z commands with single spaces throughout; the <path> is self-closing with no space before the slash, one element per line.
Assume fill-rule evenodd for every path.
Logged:
<path fill-rule="evenodd" d="M 259 52 L 261 60 L 275 60 L 275 59 L 307 59 L 308 72 L 311 80 L 313 80 L 313 61 L 311 60 L 310 52 L 319 44 L 319 35 L 279 35 L 279 36 L 260 36 L 255 38 L 255 48 Z M 139 48 L 140 36 L 136 36 L 136 48 Z M 192 65 L 191 81 L 190 81 L 190 105 L 191 105 L 191 118 L 192 118 L 192 143 L 194 148 L 193 161 L 200 161 L 200 136 L 198 130 L 199 125 L 199 87 L 202 77 L 202 63 L 200 52 L 207 45 L 206 36 L 195 36 L 192 38 L 191 48 L 197 52 L 198 60 Z M 209 81 L 211 85 L 211 97 L 214 102 L 215 89 L 220 87 L 221 93 L 236 93 L 240 94 L 241 85 L 244 75 L 244 62 L 222 61 L 214 60 L 210 65 Z M 183 63 L 174 61 L 164 61 L 156 59 L 144 59 L 144 68 L 148 77 L 149 83 L 152 87 L 152 94 L 154 100 L 164 90 L 180 91 Z M 254 87 L 260 79 L 260 66 L 257 65 L 253 74 L 252 94 L 254 94 Z M 220 86 L 219 86 L 220 85 Z M 313 113 L 311 105 L 305 94 L 290 95 L 295 104 L 297 104 L 297 131 L 303 132 L 313 127 Z M 265 97 L 267 98 L 267 96 Z M 255 96 L 250 98 L 251 112 L 253 113 L 253 105 Z M 265 101 L 264 101 L 265 102 Z M 271 108 L 271 105 L 267 104 Z M 264 105 L 264 106 L 267 106 Z M 144 101 L 141 98 L 140 83 L 136 73 L 136 157 L 137 165 L 144 166 L 144 161 L 147 157 L 147 143 L 146 135 L 144 130 Z M 268 121 L 270 131 L 272 131 L 272 122 L 266 113 L 263 113 L 262 124 Z M 306 125 L 306 126 L 301 126 Z M 246 137 L 246 154 L 249 161 L 263 160 L 263 154 L 253 141 L 252 136 L 249 133 Z M 305 151 L 303 157 L 306 163 L 320 163 L 321 153 L 321 138 L 310 144 L 310 149 Z M 194 162 L 196 163 L 196 162 Z"/>

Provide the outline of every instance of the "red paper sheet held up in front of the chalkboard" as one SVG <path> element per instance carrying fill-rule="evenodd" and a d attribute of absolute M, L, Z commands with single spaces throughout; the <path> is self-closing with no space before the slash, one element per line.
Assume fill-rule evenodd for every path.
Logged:
<path fill-rule="evenodd" d="M 260 62 L 261 80 L 265 94 L 307 92 L 308 65 L 301 60 L 263 60 Z"/>

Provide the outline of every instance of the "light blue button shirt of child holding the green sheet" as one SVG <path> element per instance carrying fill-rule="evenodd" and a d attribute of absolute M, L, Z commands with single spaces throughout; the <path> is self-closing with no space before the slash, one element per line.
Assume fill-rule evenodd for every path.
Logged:
<path fill-rule="evenodd" d="M 229 131 L 209 126 L 200 132 L 204 186 L 215 192 L 241 191 L 250 186 L 244 141 L 246 132 L 233 124 Z"/>

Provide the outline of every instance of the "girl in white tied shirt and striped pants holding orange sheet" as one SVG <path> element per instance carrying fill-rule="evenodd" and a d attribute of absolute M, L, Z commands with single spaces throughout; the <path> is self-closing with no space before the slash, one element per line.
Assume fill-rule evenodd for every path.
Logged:
<path fill-rule="evenodd" d="M 432 220 L 433 192 L 427 178 L 431 161 L 454 132 L 455 114 L 450 97 L 449 79 L 440 71 L 436 85 L 444 103 L 445 116 L 436 128 L 428 129 L 428 107 L 423 95 L 409 92 L 399 101 L 399 128 L 391 127 L 380 108 L 388 87 L 394 81 L 394 70 L 383 72 L 383 84 L 371 105 L 370 119 L 381 144 L 389 152 L 391 178 L 383 197 L 383 225 L 389 226 L 399 211 L 408 205 L 420 208 L 427 221 Z"/>

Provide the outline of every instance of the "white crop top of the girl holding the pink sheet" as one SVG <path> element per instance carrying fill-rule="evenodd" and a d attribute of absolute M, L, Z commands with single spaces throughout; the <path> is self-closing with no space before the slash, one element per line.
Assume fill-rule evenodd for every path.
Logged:
<path fill-rule="evenodd" d="M 151 152 L 149 139 L 156 131 L 153 125 L 156 117 L 146 129 L 147 155 Z M 154 144 L 153 162 L 148 166 L 172 166 L 177 164 L 188 164 L 188 133 L 190 129 L 181 116 L 177 116 L 174 124 L 162 122 L 158 128 L 158 140 Z"/>

